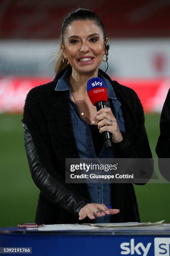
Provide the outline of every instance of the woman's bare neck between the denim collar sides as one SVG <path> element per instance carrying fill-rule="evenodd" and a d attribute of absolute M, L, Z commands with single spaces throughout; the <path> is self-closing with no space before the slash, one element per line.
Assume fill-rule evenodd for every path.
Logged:
<path fill-rule="evenodd" d="M 72 69 L 72 74 L 69 77 L 71 90 L 76 95 L 87 96 L 87 81 L 92 77 L 98 76 L 98 69 L 90 74 L 80 74 Z"/>

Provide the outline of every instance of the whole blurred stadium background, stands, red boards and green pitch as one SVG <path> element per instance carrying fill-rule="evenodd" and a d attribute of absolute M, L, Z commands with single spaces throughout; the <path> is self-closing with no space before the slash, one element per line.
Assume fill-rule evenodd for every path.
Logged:
<path fill-rule="evenodd" d="M 0 0 L 0 227 L 34 222 L 39 190 L 24 148 L 23 106 L 32 87 L 54 78 L 50 60 L 62 19 L 77 7 L 103 20 L 110 43 L 107 73 L 138 93 L 157 157 L 160 112 L 170 88 L 170 1 Z M 134 186 L 141 221 L 170 222 L 170 184 Z"/>

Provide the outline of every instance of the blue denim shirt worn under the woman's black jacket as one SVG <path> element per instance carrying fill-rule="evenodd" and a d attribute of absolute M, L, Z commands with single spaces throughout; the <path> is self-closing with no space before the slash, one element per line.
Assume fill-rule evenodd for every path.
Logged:
<path fill-rule="evenodd" d="M 117 99 L 109 80 L 100 74 L 100 72 L 98 72 L 98 77 L 104 81 L 107 87 L 107 105 L 111 108 L 112 113 L 115 115 L 120 131 L 125 132 L 125 123 L 122 115 L 121 103 Z M 70 112 L 80 158 L 97 158 L 92 142 L 90 127 L 84 120 L 80 118 L 77 105 L 71 100 L 71 91 L 68 82 L 68 70 L 66 70 L 62 77 L 58 80 L 55 90 L 69 91 Z M 114 158 L 113 147 L 107 148 L 104 143 L 99 158 Z M 87 183 L 87 186 L 92 203 L 111 205 L 112 197 L 110 183 Z M 95 218 L 95 223 L 110 223 L 110 215 Z"/>

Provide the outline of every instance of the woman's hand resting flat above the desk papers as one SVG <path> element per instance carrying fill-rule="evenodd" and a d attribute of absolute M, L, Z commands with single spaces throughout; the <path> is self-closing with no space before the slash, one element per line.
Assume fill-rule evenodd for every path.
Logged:
<path fill-rule="evenodd" d="M 99 210 L 102 211 L 97 213 Z M 116 214 L 118 212 L 120 212 L 119 209 L 108 209 L 106 205 L 90 203 L 81 208 L 79 212 L 79 220 L 83 220 L 85 217 L 93 220 L 95 219 L 95 216 L 103 217 L 106 214 Z"/>

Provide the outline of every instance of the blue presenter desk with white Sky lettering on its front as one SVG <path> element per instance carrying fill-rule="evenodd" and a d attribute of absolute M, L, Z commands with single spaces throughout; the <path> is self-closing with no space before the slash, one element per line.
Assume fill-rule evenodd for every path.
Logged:
<path fill-rule="evenodd" d="M 33 256 L 170 256 L 170 224 L 62 231 L 0 228 L 0 247 L 32 247 Z"/>

